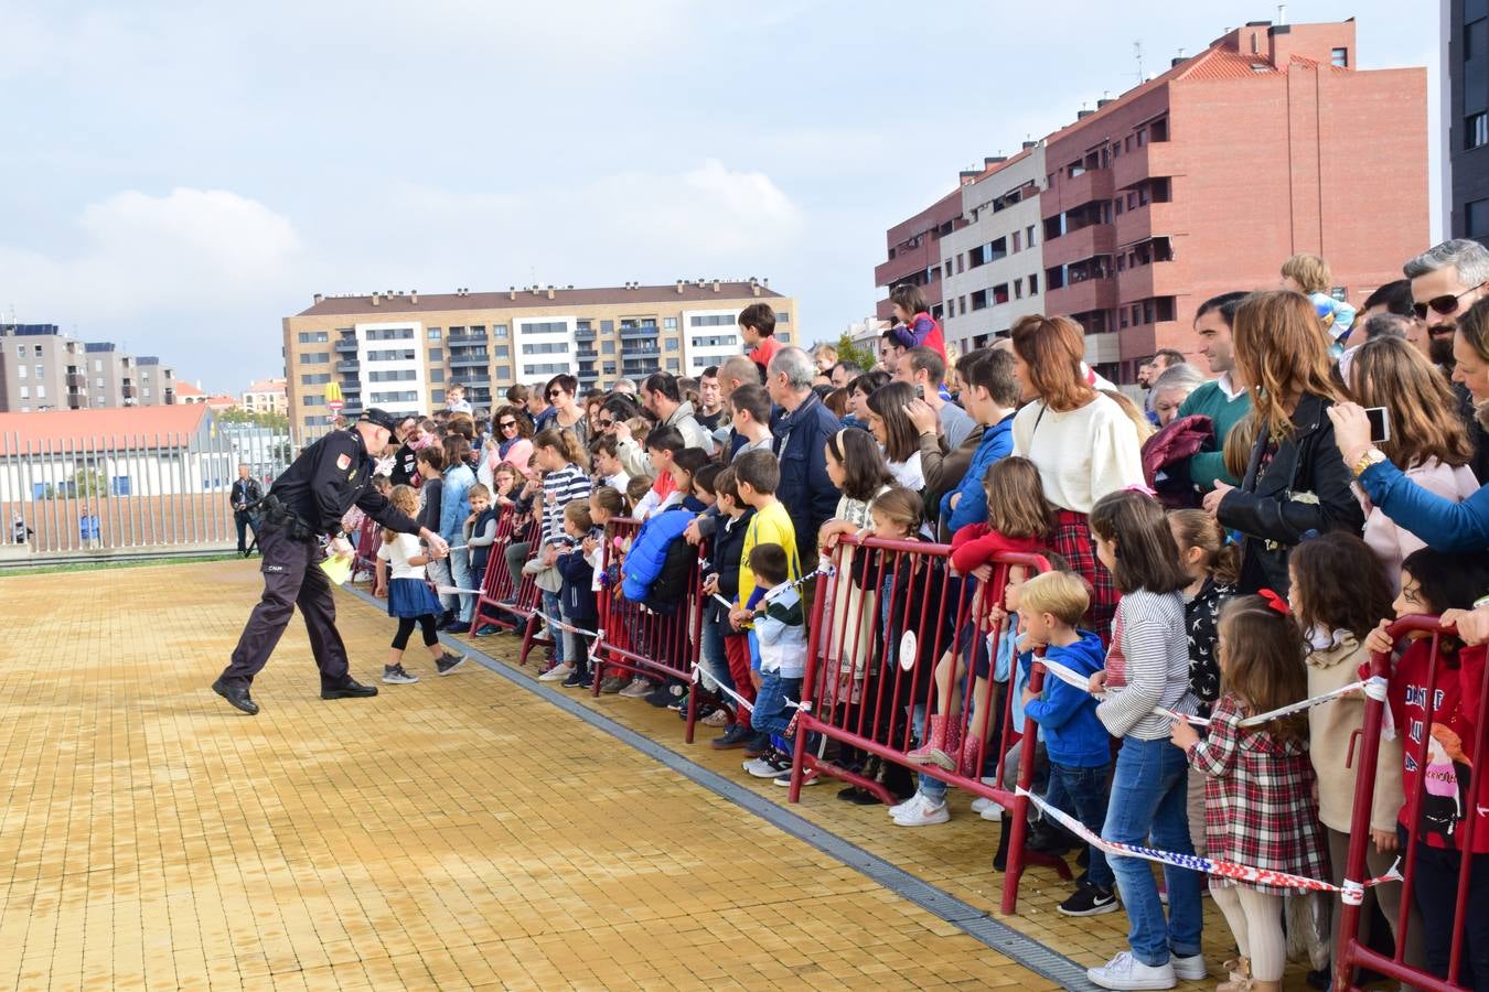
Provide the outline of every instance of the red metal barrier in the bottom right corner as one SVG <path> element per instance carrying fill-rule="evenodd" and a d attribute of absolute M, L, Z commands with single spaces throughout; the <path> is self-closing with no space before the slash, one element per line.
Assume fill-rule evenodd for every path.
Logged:
<path fill-rule="evenodd" d="M 1403 684 L 1397 678 L 1397 684 L 1392 686 L 1395 692 L 1409 692 L 1416 698 L 1416 702 L 1425 711 L 1422 720 L 1410 721 L 1407 727 L 1397 727 L 1397 733 L 1403 735 L 1403 744 L 1406 748 L 1407 767 L 1412 763 L 1421 772 L 1416 775 L 1416 785 L 1410 791 L 1415 793 L 1406 797 L 1406 809 L 1421 809 L 1423 799 L 1426 797 L 1428 779 L 1432 779 L 1431 773 L 1432 759 L 1429 757 L 1429 748 L 1437 741 L 1437 736 L 1429 730 L 1434 726 L 1434 717 L 1443 715 L 1444 721 L 1458 720 L 1459 727 L 1471 730 L 1470 735 L 1462 736 L 1462 751 L 1464 757 L 1468 759 L 1467 767 L 1471 770 L 1468 796 L 1462 794 L 1462 785 L 1458 775 L 1464 772 L 1456 772 L 1455 779 L 1455 799 L 1461 803 L 1465 812 L 1462 821 L 1456 822 L 1453 830 L 1455 843 L 1459 852 L 1473 852 L 1474 840 L 1482 836 L 1489 824 L 1480 822 L 1489 809 L 1489 788 L 1486 788 L 1485 773 L 1489 772 L 1489 720 L 1483 720 L 1482 715 L 1489 708 L 1489 666 L 1474 665 L 1470 671 L 1467 657 L 1459 656 L 1458 668 L 1452 668 L 1446 660 L 1444 645 L 1441 638 L 1452 634 L 1452 628 L 1444 628 L 1437 617 L 1403 617 L 1391 625 L 1391 638 L 1400 641 L 1407 635 L 1426 635 L 1431 638 L 1431 665 L 1426 675 L 1426 686 L 1409 686 Z M 1476 651 L 1477 648 L 1459 648 L 1464 651 Z M 1482 657 L 1474 654 L 1476 659 Z M 1480 674 L 1480 668 L 1483 672 Z M 1455 672 L 1449 675 L 1449 672 Z M 1458 681 L 1456 672 L 1464 672 L 1465 680 Z M 1370 674 L 1382 678 L 1392 678 L 1391 657 L 1385 653 L 1377 653 L 1370 659 Z M 1458 684 L 1459 696 L 1455 706 L 1449 708 L 1446 705 L 1447 693 L 1443 686 L 1447 684 L 1449 677 Z M 1355 812 L 1351 821 L 1349 831 L 1349 858 L 1345 870 L 1345 877 L 1354 882 L 1361 882 L 1365 879 L 1365 845 L 1370 843 L 1370 821 L 1371 821 L 1371 806 L 1374 800 L 1374 785 L 1376 785 L 1376 759 L 1380 751 L 1380 735 L 1386 712 L 1385 702 L 1377 699 L 1365 700 L 1365 724 L 1359 738 L 1359 751 L 1356 754 L 1358 778 L 1355 781 Z M 1438 712 L 1438 706 L 1444 711 L 1452 709 L 1452 712 Z M 1470 711 L 1470 706 L 1473 709 Z M 1470 739 L 1471 738 L 1471 739 Z M 1455 757 L 1447 760 L 1453 761 L 1458 767 Z M 1345 907 L 1340 921 L 1339 940 L 1339 967 L 1334 974 L 1334 985 L 1339 989 L 1354 989 L 1354 971 L 1355 968 L 1370 968 L 1389 979 L 1413 985 L 1418 989 L 1428 991 L 1452 991 L 1465 989 L 1468 986 L 1461 985 L 1459 979 L 1464 977 L 1464 927 L 1468 921 L 1468 892 L 1470 892 L 1470 870 L 1476 855 L 1461 857 L 1461 867 L 1458 875 L 1456 888 L 1456 904 L 1453 909 L 1453 927 L 1452 927 L 1452 955 L 1447 965 L 1446 974 L 1432 974 L 1425 968 L 1423 964 L 1406 961 L 1406 947 L 1410 928 L 1413 925 L 1422 925 L 1419 921 L 1412 919 L 1412 904 L 1413 892 L 1418 883 L 1418 854 L 1421 846 L 1419 840 L 1419 825 L 1422 817 L 1418 815 L 1412 818 L 1413 822 L 1407 830 L 1407 843 L 1401 855 L 1403 860 L 1403 880 L 1401 880 L 1401 910 L 1397 919 L 1397 947 L 1394 955 L 1383 955 L 1370 947 L 1361 946 L 1358 940 L 1359 933 L 1359 913 L 1361 906 L 1352 898 L 1345 900 Z M 1486 858 L 1489 855 L 1477 855 Z M 1392 882 L 1388 882 L 1391 885 Z M 1489 976 L 1476 976 L 1476 985 L 1479 988 L 1489 988 Z"/>

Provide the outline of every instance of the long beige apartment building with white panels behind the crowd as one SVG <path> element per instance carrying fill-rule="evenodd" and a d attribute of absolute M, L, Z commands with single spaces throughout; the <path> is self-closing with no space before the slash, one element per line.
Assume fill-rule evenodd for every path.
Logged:
<path fill-rule="evenodd" d="M 316 296 L 284 318 L 290 422 L 331 421 L 325 385 L 341 387 L 344 413 L 365 406 L 427 412 L 445 388 L 475 408 L 505 402 L 506 387 L 558 373 L 582 388 L 652 372 L 698 375 L 740 354 L 737 318 L 752 303 L 776 311 L 776 336 L 795 344 L 794 300 L 765 281 L 677 281 L 610 289 L 526 287 L 505 293 Z"/>

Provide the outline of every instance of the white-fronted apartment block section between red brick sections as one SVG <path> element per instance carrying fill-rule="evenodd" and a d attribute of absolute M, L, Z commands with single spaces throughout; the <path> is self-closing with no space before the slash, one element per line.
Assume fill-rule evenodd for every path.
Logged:
<path fill-rule="evenodd" d="M 946 344 L 959 354 L 1044 309 L 1044 144 L 1027 141 L 962 186 L 968 225 L 940 241 Z"/>

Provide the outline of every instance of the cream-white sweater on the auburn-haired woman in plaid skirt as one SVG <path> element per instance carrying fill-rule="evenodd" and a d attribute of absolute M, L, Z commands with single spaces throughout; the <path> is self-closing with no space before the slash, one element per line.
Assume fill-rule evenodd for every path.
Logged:
<path fill-rule="evenodd" d="M 1014 416 L 1014 454 L 1039 467 L 1044 497 L 1062 510 L 1090 513 L 1108 492 L 1144 483 L 1138 428 L 1106 396 L 1068 413 L 1029 403 Z"/>

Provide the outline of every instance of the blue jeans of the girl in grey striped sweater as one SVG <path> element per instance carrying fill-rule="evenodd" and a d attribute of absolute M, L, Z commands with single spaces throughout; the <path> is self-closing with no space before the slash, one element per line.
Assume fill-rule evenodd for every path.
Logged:
<path fill-rule="evenodd" d="M 1190 766 L 1184 751 L 1167 738 L 1123 738 L 1102 837 L 1175 854 L 1194 854 L 1187 811 L 1188 778 Z M 1169 891 L 1169 918 L 1164 921 L 1150 863 L 1117 855 L 1109 863 L 1130 919 L 1127 943 L 1132 946 L 1132 956 L 1157 968 L 1170 955 L 1197 955 L 1202 924 L 1200 875 L 1190 869 L 1163 869 Z"/>

